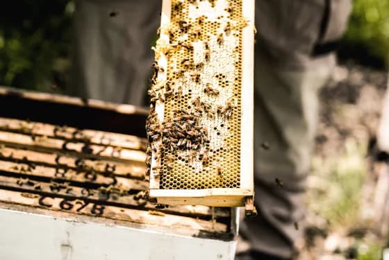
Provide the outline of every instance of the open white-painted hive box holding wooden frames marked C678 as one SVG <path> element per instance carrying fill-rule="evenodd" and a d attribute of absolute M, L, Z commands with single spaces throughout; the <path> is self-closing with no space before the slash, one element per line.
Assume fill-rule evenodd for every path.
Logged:
<path fill-rule="evenodd" d="M 5 88 L 0 106 L 0 259 L 233 259 L 235 211 L 147 200 L 147 110 Z"/>

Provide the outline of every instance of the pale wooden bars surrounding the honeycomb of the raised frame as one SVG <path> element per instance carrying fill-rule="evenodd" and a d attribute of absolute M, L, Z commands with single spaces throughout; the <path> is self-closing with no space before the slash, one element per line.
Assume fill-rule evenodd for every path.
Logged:
<path fill-rule="evenodd" d="M 169 27 L 171 0 L 163 0 L 160 28 Z M 242 114 L 241 114 L 241 144 L 240 144 L 240 188 L 211 189 L 160 189 L 159 176 L 153 176 L 151 171 L 151 198 L 158 203 L 167 205 L 208 205 L 215 207 L 242 207 L 249 210 L 254 198 L 254 0 L 242 0 L 242 15 L 247 18 L 247 26 L 242 28 Z M 165 30 L 160 32 L 161 39 L 169 39 Z M 160 62 L 160 60 L 158 60 Z M 163 60 L 163 62 L 165 62 Z M 162 63 L 164 66 L 165 63 Z M 163 73 L 163 75 L 166 74 Z M 159 75 L 159 74 L 158 74 Z M 156 112 L 163 121 L 163 105 L 156 106 Z M 162 116 L 161 116 L 162 115 Z M 152 161 L 151 166 L 159 165 Z M 251 200 L 247 200 L 251 198 Z M 255 210 L 255 208 L 254 208 Z"/>

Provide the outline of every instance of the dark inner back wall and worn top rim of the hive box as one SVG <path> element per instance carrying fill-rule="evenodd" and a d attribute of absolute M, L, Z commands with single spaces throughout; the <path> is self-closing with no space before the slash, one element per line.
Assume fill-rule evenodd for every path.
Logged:
<path fill-rule="evenodd" d="M 4 118 L 145 137 L 147 110 L 142 107 L 10 87 L 0 87 L 0 104 Z"/>

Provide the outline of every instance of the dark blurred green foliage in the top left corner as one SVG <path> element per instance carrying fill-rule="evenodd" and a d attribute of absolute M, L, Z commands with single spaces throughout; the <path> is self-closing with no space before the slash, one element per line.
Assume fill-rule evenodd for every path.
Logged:
<path fill-rule="evenodd" d="M 74 3 L 8 1 L 0 8 L 0 85 L 63 87 Z"/>

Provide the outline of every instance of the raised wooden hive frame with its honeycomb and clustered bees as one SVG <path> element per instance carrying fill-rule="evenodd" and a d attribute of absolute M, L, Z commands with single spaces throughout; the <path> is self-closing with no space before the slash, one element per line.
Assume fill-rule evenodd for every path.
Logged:
<path fill-rule="evenodd" d="M 147 122 L 151 198 L 252 202 L 254 30 L 253 0 L 163 1 Z"/>

